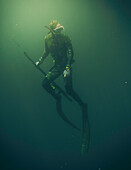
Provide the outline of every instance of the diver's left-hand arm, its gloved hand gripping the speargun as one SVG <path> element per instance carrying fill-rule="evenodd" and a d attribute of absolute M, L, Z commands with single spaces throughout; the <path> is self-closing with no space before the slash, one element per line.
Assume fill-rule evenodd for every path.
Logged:
<path fill-rule="evenodd" d="M 41 63 L 43 63 L 43 61 L 48 56 L 48 54 L 49 54 L 49 50 L 48 50 L 48 46 L 47 46 L 47 40 L 45 39 L 45 50 L 43 52 L 42 57 L 40 57 L 39 60 L 36 62 L 36 66 L 39 66 Z"/>

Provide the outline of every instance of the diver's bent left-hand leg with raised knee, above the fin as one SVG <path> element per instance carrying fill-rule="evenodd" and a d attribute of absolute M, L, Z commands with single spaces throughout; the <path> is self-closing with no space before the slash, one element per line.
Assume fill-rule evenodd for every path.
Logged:
<path fill-rule="evenodd" d="M 52 82 L 62 74 L 62 71 L 57 67 L 54 67 L 49 71 L 42 82 L 44 89 L 51 94 L 55 99 L 59 98 L 59 95 L 56 93 L 55 87 L 52 85 Z"/>

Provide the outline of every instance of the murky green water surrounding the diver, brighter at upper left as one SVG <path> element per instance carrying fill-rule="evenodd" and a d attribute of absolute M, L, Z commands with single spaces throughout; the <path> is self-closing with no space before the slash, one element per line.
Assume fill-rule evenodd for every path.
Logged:
<path fill-rule="evenodd" d="M 44 26 L 54 19 L 72 40 L 74 89 L 89 107 L 85 156 L 81 133 L 59 117 L 23 54 L 42 56 Z M 127 0 L 0 0 L 0 170 L 130 170 L 130 19 Z M 48 57 L 41 68 L 52 65 Z M 63 88 L 62 77 L 56 82 Z M 77 103 L 63 97 L 63 109 L 81 127 Z"/>

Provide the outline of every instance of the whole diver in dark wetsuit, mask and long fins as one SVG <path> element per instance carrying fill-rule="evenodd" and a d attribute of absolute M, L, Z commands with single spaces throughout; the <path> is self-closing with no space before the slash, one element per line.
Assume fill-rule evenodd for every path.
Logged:
<path fill-rule="evenodd" d="M 57 79 L 59 76 L 63 75 L 65 82 L 65 90 L 66 93 L 71 96 L 81 107 L 82 109 L 82 153 L 87 152 L 89 145 L 89 133 L 87 130 L 88 122 L 87 122 L 87 104 L 85 104 L 79 95 L 74 91 L 72 85 L 72 65 L 74 63 L 73 59 L 73 47 L 70 38 L 63 34 L 62 31 L 64 27 L 60 25 L 57 20 L 53 20 L 50 22 L 49 26 L 45 26 L 48 28 L 49 33 L 45 36 L 45 49 L 41 58 L 35 63 L 36 67 L 39 67 L 40 64 L 46 59 L 46 57 L 50 54 L 53 58 L 54 66 L 49 70 L 46 74 L 42 86 L 43 88 L 53 96 L 56 100 L 57 111 L 62 115 L 61 108 L 61 92 L 57 90 L 53 85 L 53 81 Z M 66 119 L 63 114 L 63 119 L 67 121 L 70 125 L 71 123 Z M 87 144 L 88 142 L 88 144 Z"/>

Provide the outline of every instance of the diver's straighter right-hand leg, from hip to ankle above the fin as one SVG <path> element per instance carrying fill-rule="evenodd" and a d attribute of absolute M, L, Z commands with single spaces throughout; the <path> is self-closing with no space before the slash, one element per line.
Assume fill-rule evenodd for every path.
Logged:
<path fill-rule="evenodd" d="M 74 91 L 72 84 L 72 69 L 70 71 L 70 76 L 65 78 L 65 89 L 66 92 L 80 105 L 83 106 L 83 101 L 79 97 L 79 95 Z"/>

